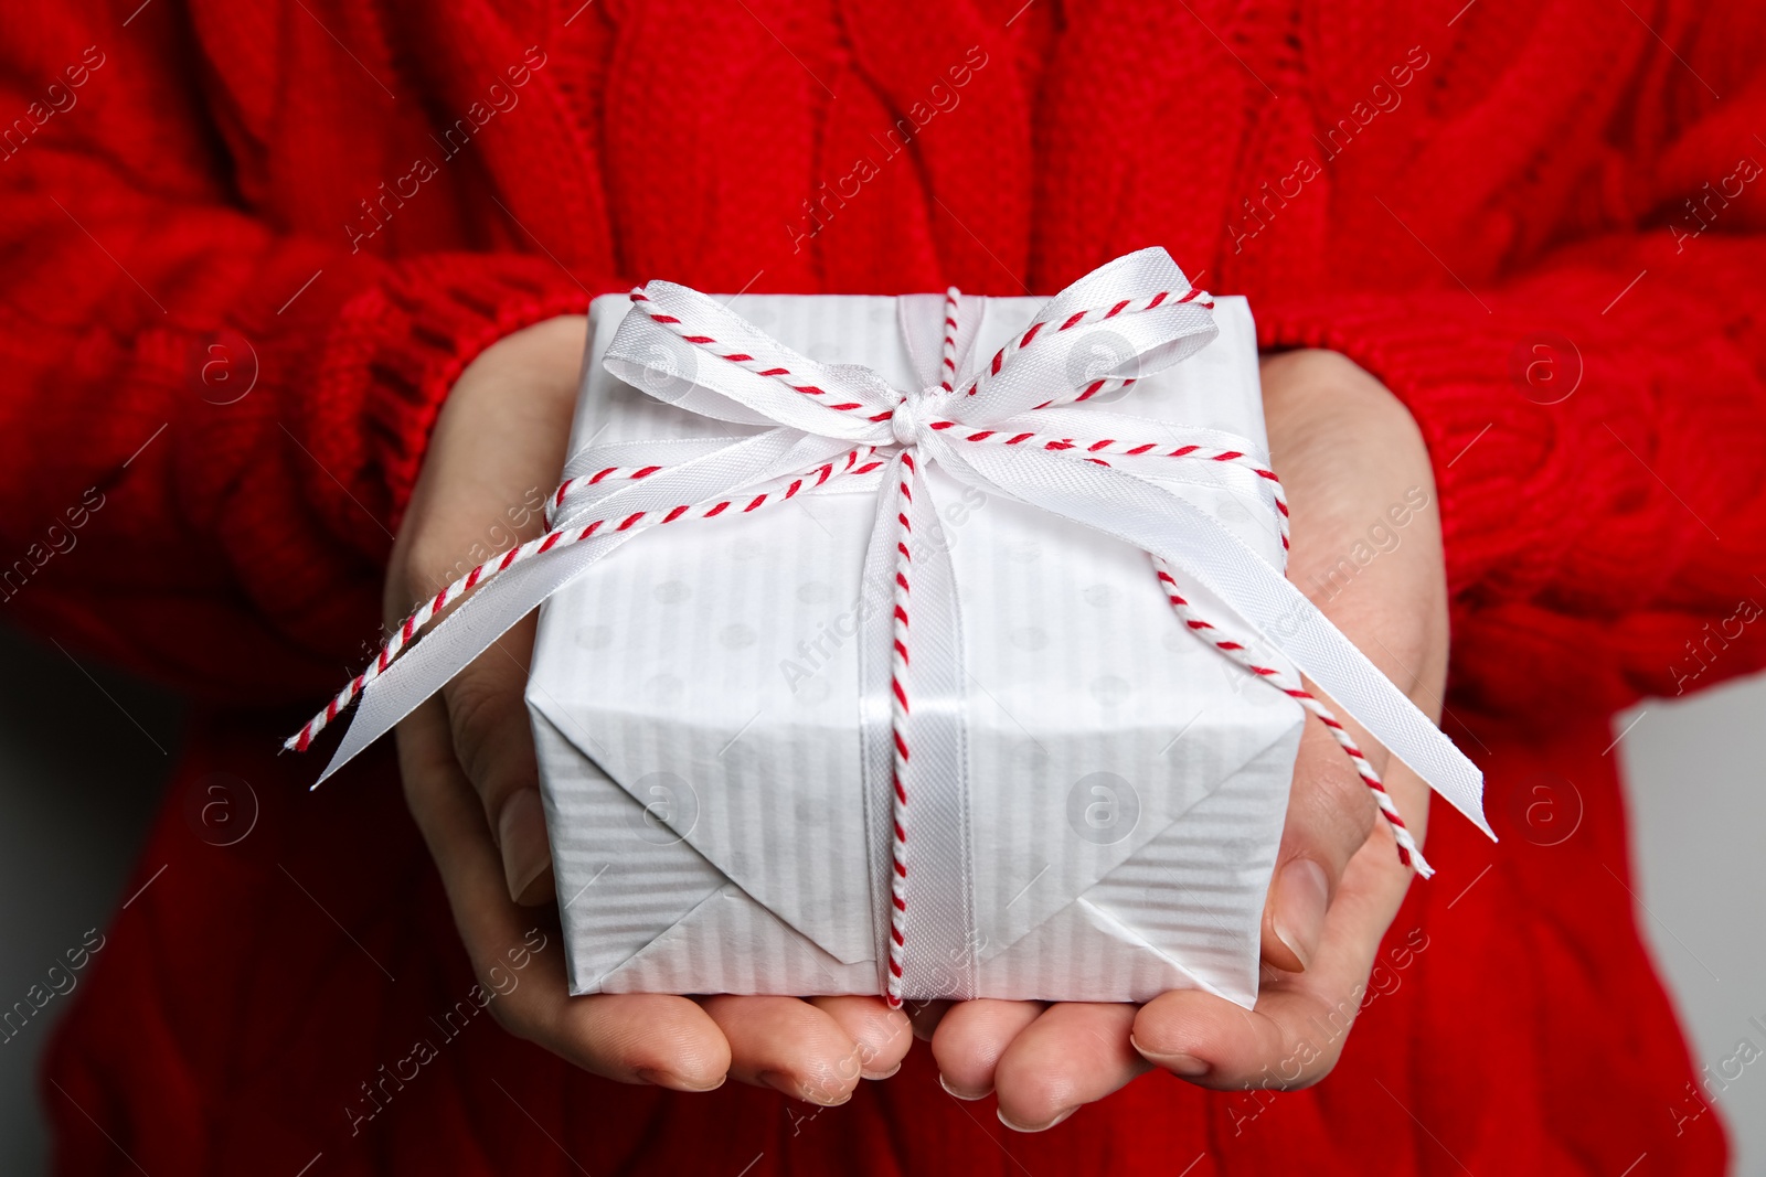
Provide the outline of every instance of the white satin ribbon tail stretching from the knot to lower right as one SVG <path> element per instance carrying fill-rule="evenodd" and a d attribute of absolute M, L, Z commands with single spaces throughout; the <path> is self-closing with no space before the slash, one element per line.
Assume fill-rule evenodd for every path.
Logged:
<path fill-rule="evenodd" d="M 1478 766 L 1300 589 L 1211 514 L 1167 487 L 1114 468 L 1035 450 L 1001 454 L 973 446 L 959 455 L 948 445 L 934 446 L 945 469 L 978 480 L 982 489 L 1003 491 L 1180 566 L 1496 840 L 1483 817 Z"/>

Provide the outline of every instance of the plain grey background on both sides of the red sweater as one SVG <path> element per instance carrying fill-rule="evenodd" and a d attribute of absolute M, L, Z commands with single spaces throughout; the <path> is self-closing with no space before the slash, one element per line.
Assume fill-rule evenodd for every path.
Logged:
<path fill-rule="evenodd" d="M 25 995 L 87 928 L 129 900 L 124 884 L 177 757 L 178 706 L 0 628 L 0 1008 Z M 1766 676 L 1619 716 L 1630 780 L 1639 916 L 1692 1031 L 1695 1064 L 1766 1048 Z M 57 997 L 0 1045 L 0 1173 L 44 1172 L 35 1064 Z M 51 1092 L 51 1098 L 55 1092 Z M 1717 1106 L 1736 1173 L 1766 1173 L 1766 1068 Z M 1667 1108 L 1662 1112 L 1667 1115 Z"/>

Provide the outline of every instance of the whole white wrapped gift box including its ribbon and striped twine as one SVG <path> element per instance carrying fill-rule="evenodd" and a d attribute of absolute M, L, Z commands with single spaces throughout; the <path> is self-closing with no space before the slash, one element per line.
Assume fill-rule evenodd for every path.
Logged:
<path fill-rule="evenodd" d="M 650 282 L 593 302 L 583 372 L 549 531 L 290 739 L 360 695 L 330 775 L 544 602 L 574 993 L 1250 1006 L 1303 709 L 1427 873 L 1298 669 L 1489 833 L 1282 577 L 1250 309 L 1164 251 L 1045 304 Z"/>

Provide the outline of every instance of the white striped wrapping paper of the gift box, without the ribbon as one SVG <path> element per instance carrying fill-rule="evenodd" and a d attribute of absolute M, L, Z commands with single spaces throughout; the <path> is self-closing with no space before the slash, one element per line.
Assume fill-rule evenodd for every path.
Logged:
<path fill-rule="evenodd" d="M 1040 307 L 966 298 L 973 353 Z M 604 369 L 629 309 L 592 305 L 572 450 L 745 432 Z M 731 311 L 814 360 L 917 383 L 895 298 L 747 295 Z M 1250 311 L 1219 298 L 1213 314 L 1213 342 L 1111 409 L 1264 446 Z M 906 997 L 1201 988 L 1250 1006 L 1300 706 L 1187 628 L 1143 551 L 925 476 L 966 683 L 966 796 L 936 836 L 961 856 L 970 933 L 948 976 L 922 969 Z M 1241 469 L 1189 469 L 1173 489 L 1282 566 Z M 848 476 L 648 529 L 544 603 L 526 701 L 570 992 L 881 992 L 888 798 L 865 787 L 860 715 L 887 701 L 860 699 L 857 649 L 879 491 Z M 1187 595 L 1252 642 L 1206 591 Z"/>

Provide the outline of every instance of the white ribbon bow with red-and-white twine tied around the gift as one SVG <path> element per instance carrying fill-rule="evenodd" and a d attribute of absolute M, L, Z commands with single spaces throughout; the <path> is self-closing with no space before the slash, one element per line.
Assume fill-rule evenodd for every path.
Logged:
<path fill-rule="evenodd" d="M 1279 568 L 1174 491 L 1183 480 L 1240 480 L 1266 499 L 1286 551 L 1287 505 L 1257 446 L 1215 431 L 1185 431 L 1171 439 L 1162 422 L 1086 404 L 1181 362 L 1219 334 L 1213 304 L 1164 249 L 1118 258 L 1079 279 L 970 376 L 961 376 L 959 341 L 973 337 L 973 325 L 964 330 L 959 323 L 962 300 L 950 289 L 938 365 L 925 371 L 927 356 L 924 385 L 906 390 L 865 367 L 802 356 L 685 286 L 650 282 L 632 293 L 632 304 L 608 346 L 608 371 L 659 401 L 749 432 L 609 443 L 572 457 L 551 501 L 549 531 L 436 593 L 288 741 L 290 748 L 307 748 L 360 695 L 321 782 L 510 625 L 641 531 L 763 510 L 881 471 L 864 584 L 867 591 L 887 589 L 892 607 L 867 611 L 860 731 L 867 796 L 879 794 L 885 780 L 892 796 L 885 993 L 899 1002 L 902 993 L 948 988 L 929 978 L 945 972 L 941 958 L 968 958 L 973 946 L 961 821 L 961 616 L 950 556 L 936 542 L 938 517 L 925 484 L 925 464 L 932 462 L 984 492 L 1031 503 L 1150 552 L 1173 609 L 1190 630 L 1326 723 L 1372 789 L 1406 863 L 1430 873 L 1342 723 L 1298 679 L 1266 665 L 1275 658 L 1259 658 L 1215 630 L 1180 584 L 1203 586 L 1224 602 L 1494 838 L 1483 819 L 1478 769 Z M 915 316 L 936 312 L 938 298 L 904 298 L 901 307 L 913 342 Z M 1160 436 L 1167 439 L 1157 441 Z M 419 630 L 466 593 L 473 595 L 413 644 Z M 909 911 L 913 958 L 904 951 Z"/>

